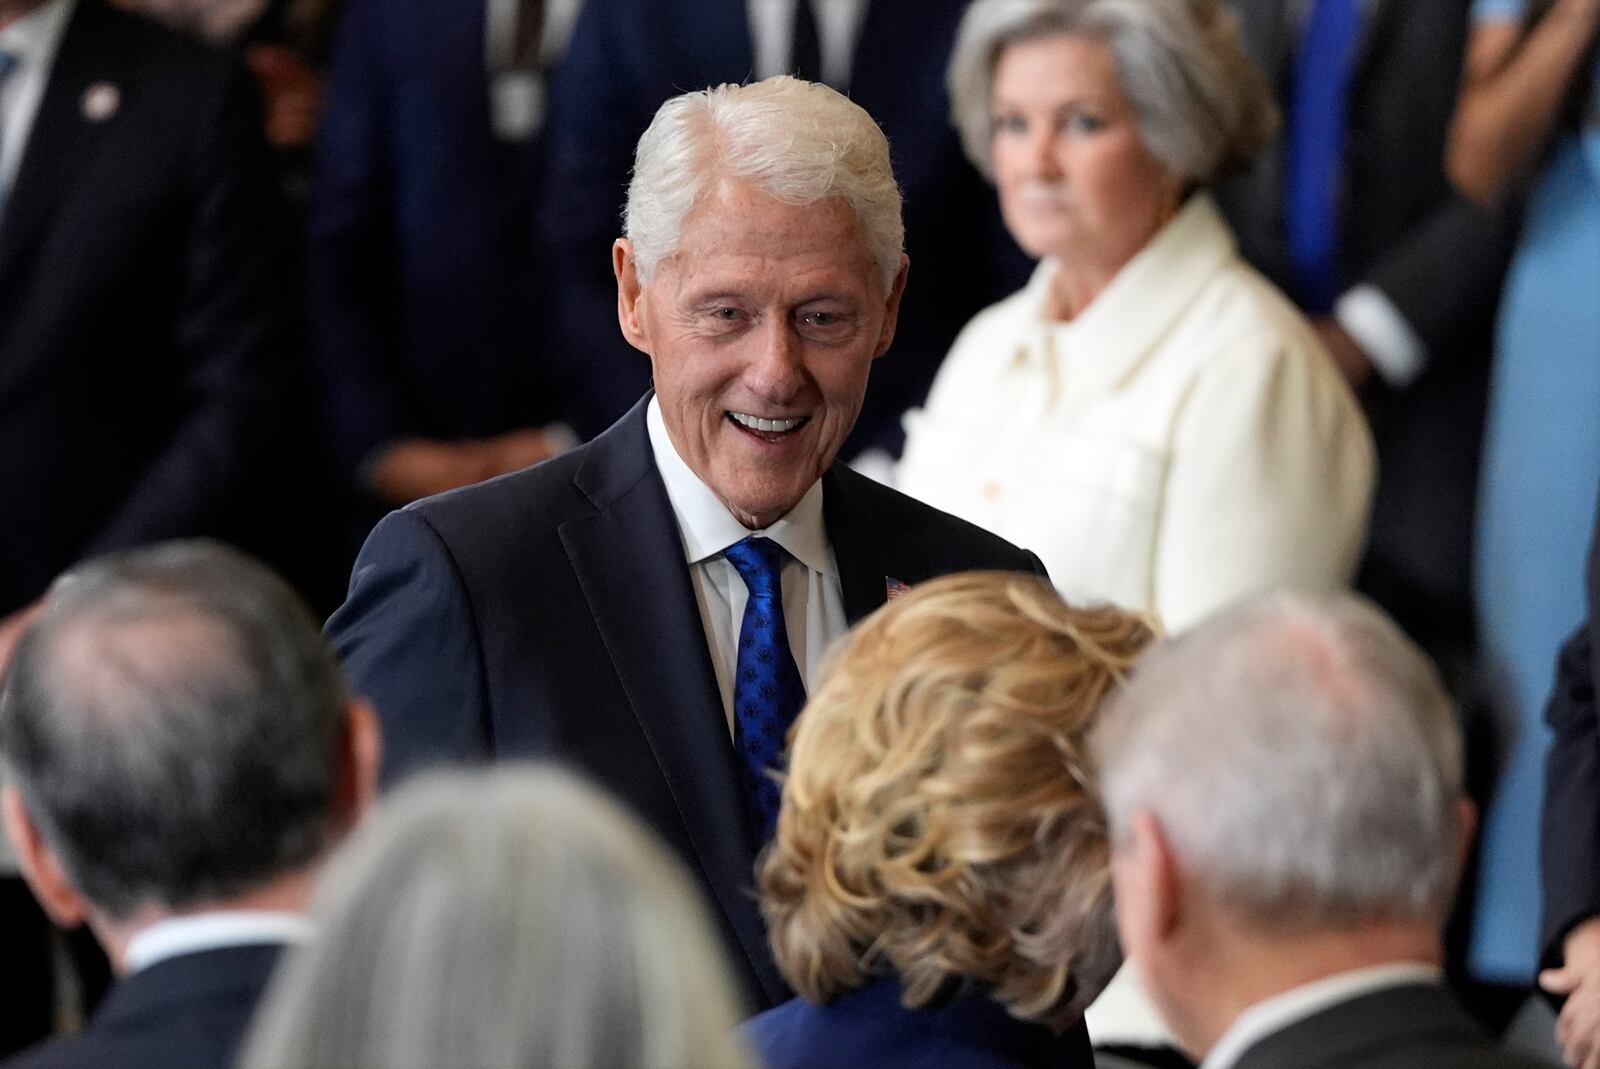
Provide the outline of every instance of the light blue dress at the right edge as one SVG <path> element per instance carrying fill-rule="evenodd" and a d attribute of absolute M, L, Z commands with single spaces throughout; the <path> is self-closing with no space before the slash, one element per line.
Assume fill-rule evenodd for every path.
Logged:
<path fill-rule="evenodd" d="M 1478 22 L 1526 0 L 1477 0 Z M 1600 80 L 1597 80 L 1600 85 Z M 1507 735 L 1483 821 L 1469 970 L 1528 984 L 1538 957 L 1544 704 L 1584 618 L 1600 486 L 1600 130 L 1563 136 L 1531 190 L 1506 278 L 1483 442 L 1475 594 L 1483 664 Z"/>

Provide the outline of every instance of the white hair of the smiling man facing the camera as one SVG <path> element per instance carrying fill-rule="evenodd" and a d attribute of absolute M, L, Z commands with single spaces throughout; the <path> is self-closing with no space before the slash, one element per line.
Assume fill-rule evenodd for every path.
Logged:
<path fill-rule="evenodd" d="M 890 142 L 840 93 L 789 75 L 683 93 L 638 139 L 622 232 L 640 282 L 678 251 L 683 224 L 717 179 L 749 182 L 790 205 L 837 197 L 856 213 L 888 290 L 906 248 Z"/>

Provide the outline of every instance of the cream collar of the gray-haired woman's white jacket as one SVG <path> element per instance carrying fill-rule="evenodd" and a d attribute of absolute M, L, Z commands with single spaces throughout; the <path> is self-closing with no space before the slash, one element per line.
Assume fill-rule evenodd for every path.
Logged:
<path fill-rule="evenodd" d="M 1067 323 L 1046 315 L 1050 286 L 1059 266 L 1056 258 L 1048 258 L 1034 269 L 1026 286 L 1027 306 L 1042 338 L 1018 358 L 1048 358 L 1054 347 L 1070 347 L 1093 355 L 1074 365 L 1074 374 L 1117 382 L 1166 334 L 1218 269 L 1237 258 L 1232 230 L 1216 202 L 1203 192 L 1189 197 L 1182 210 Z"/>

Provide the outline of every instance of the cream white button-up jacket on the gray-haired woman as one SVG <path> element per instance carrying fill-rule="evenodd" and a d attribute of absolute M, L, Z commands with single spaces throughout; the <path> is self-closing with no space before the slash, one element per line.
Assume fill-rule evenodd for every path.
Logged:
<path fill-rule="evenodd" d="M 1373 440 L 1310 323 L 1190 197 L 1072 322 L 1054 261 L 957 338 L 894 482 L 1043 559 L 1067 599 L 1181 631 L 1349 583 Z"/>

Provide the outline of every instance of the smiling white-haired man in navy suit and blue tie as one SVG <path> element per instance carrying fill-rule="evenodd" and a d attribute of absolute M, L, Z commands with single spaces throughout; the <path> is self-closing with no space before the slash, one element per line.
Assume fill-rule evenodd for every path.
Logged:
<path fill-rule="evenodd" d="M 654 392 L 566 456 L 390 514 L 328 624 L 390 783 L 586 770 L 694 866 L 757 1005 L 787 995 L 749 893 L 770 770 L 826 648 L 907 584 L 1042 571 L 834 462 L 894 336 L 902 240 L 888 142 L 834 90 L 667 101 L 611 250 Z"/>

